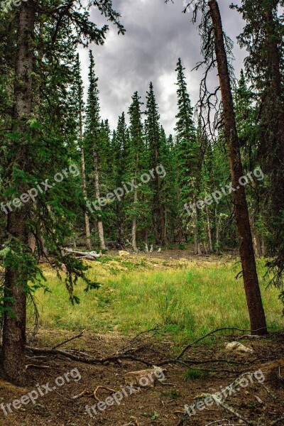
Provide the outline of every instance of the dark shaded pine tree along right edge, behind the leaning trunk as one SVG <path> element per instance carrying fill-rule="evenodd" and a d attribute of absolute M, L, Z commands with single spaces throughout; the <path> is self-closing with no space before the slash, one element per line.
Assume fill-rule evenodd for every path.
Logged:
<path fill-rule="evenodd" d="M 257 153 L 266 174 L 266 228 L 268 229 L 268 266 L 273 283 L 282 288 L 284 278 L 284 96 L 283 96 L 283 1 L 242 0 L 235 7 L 246 21 L 239 36 L 249 55 L 246 75 L 257 99 L 259 138 Z M 284 301 L 284 293 L 283 295 Z"/>

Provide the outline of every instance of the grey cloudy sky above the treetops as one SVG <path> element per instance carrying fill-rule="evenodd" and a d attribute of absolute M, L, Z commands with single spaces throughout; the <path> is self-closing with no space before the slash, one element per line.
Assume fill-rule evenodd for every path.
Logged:
<path fill-rule="evenodd" d="M 174 0 L 174 4 L 165 4 L 164 0 L 114 0 L 114 8 L 121 13 L 126 35 L 117 35 L 116 28 L 110 25 L 106 43 L 90 47 L 99 77 L 102 118 L 109 119 L 111 129 L 116 127 L 122 111 L 127 113 L 133 92 L 137 90 L 145 102 L 152 81 L 160 122 L 167 133 L 173 133 L 177 113 L 175 68 L 179 57 L 186 68 L 192 104 L 197 102 L 202 71 L 191 70 L 201 60 L 200 38 L 196 26 L 190 21 L 191 14 L 182 13 L 184 3 L 184 0 Z M 241 32 L 243 22 L 239 13 L 229 9 L 231 0 L 219 3 L 224 30 L 235 42 L 234 67 L 239 76 L 246 53 L 239 50 L 236 35 Z M 104 23 L 96 9 L 92 10 L 91 16 L 98 25 Z M 80 50 L 80 58 L 87 92 L 87 49 Z M 215 79 L 216 75 L 211 78 Z"/>

